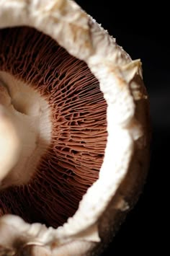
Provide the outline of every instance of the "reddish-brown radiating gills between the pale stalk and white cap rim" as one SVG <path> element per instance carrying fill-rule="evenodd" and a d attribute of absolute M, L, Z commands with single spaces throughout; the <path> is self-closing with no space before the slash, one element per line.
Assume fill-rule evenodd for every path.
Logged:
<path fill-rule="evenodd" d="M 98 178 L 107 143 L 107 103 L 86 63 L 31 27 L 0 30 L 0 70 L 48 100 L 53 126 L 30 182 L 0 190 L 0 216 L 13 213 L 57 227 L 73 216 Z"/>

